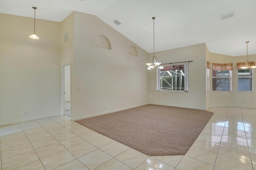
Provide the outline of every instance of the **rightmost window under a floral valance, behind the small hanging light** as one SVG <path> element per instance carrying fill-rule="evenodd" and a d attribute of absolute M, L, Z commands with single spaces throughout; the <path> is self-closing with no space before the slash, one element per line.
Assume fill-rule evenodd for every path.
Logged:
<path fill-rule="evenodd" d="M 253 91 L 253 70 L 237 70 L 238 91 Z"/>

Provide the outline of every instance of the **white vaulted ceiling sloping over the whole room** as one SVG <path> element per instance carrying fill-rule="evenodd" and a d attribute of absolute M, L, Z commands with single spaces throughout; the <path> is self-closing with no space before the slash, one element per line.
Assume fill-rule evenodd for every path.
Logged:
<path fill-rule="evenodd" d="M 206 43 L 212 53 L 240 56 L 250 41 L 248 54 L 256 54 L 256 0 L 1 0 L 0 13 L 34 18 L 32 6 L 51 21 L 73 11 L 96 15 L 148 53 L 154 16 L 155 51 Z"/>

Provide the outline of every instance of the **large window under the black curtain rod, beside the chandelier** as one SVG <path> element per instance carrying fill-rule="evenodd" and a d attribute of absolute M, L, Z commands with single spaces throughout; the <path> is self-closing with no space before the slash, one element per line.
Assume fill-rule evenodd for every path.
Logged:
<path fill-rule="evenodd" d="M 158 91 L 188 91 L 188 64 L 165 66 L 157 70 Z"/>

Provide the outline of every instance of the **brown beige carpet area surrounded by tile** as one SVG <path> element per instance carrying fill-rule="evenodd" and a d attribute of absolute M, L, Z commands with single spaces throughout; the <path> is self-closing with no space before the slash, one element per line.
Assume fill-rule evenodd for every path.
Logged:
<path fill-rule="evenodd" d="M 184 155 L 212 115 L 203 110 L 146 105 L 77 122 L 148 156 Z"/>

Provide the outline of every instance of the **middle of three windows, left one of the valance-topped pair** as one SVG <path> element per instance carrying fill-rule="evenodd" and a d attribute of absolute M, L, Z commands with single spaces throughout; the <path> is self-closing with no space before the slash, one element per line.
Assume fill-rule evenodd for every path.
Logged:
<path fill-rule="evenodd" d="M 212 70 L 212 90 L 231 91 L 231 70 Z"/>

